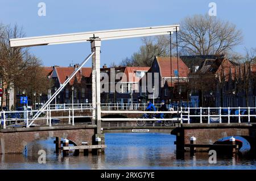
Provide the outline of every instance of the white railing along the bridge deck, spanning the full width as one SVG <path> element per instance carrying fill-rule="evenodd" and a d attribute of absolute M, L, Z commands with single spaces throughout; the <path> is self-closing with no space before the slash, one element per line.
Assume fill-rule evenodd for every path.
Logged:
<path fill-rule="evenodd" d="M 59 104 L 56 104 L 56 106 Z M 135 105 L 135 104 L 134 104 Z M 102 107 L 107 107 L 101 113 L 119 114 L 119 115 L 135 115 L 134 118 L 102 118 L 102 121 L 172 121 L 172 123 L 191 124 L 191 123 L 256 123 L 256 107 L 200 107 L 200 108 L 183 108 L 179 107 L 178 110 L 173 108 L 170 111 L 143 111 L 144 105 L 137 107 L 137 110 L 119 110 L 118 107 L 113 105 L 108 108 L 108 105 L 102 104 Z M 86 113 L 81 113 L 88 110 Z M 60 120 L 63 124 L 75 125 L 75 118 L 79 117 L 92 117 L 91 116 L 92 104 L 65 104 L 65 107 L 57 107 L 53 109 L 52 105 L 43 111 L 42 115 L 35 121 L 34 126 L 48 125 L 59 123 Z M 38 110 L 32 111 L 1 111 L 1 127 L 27 127 L 28 123 L 33 120 Z M 144 114 L 152 115 L 150 117 L 143 117 Z M 164 119 L 154 119 L 155 115 L 163 113 Z M 53 114 L 55 116 L 53 116 Z M 167 116 L 166 116 L 167 115 Z M 131 116 L 133 117 L 133 116 Z"/>

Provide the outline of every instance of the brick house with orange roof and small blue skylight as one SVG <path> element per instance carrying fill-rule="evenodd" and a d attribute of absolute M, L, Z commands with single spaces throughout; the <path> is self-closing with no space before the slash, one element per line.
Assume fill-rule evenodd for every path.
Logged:
<path fill-rule="evenodd" d="M 154 85 L 155 80 L 154 73 L 158 75 L 159 85 L 158 90 L 155 90 L 154 95 L 156 102 L 158 102 L 160 99 L 169 101 L 171 99 L 172 102 L 187 100 L 189 69 L 181 58 L 155 57 L 150 70 L 148 70 L 148 73 L 152 74 L 152 86 Z M 148 98 L 152 99 L 152 95 L 149 95 Z"/>

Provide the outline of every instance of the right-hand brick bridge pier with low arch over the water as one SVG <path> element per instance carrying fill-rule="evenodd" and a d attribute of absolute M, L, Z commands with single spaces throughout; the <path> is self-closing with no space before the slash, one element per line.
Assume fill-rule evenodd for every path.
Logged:
<path fill-rule="evenodd" d="M 255 131 L 253 124 L 181 124 L 171 134 L 176 135 L 176 150 L 186 151 L 185 144 L 190 144 L 190 138 L 196 137 L 196 144 L 211 145 L 221 138 L 228 136 L 241 136 L 249 143 L 252 152 L 256 153 Z M 197 151 L 207 151 L 209 148 L 196 148 Z"/>

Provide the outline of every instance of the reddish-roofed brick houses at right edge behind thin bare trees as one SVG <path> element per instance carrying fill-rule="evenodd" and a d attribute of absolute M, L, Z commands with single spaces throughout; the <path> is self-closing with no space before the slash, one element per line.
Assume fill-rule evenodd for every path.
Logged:
<path fill-rule="evenodd" d="M 256 106 L 256 64 L 224 60 L 216 71 L 216 106 Z"/>

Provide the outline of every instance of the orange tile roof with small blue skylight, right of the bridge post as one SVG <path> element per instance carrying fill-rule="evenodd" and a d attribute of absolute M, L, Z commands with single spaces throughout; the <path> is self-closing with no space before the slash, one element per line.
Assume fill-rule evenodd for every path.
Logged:
<path fill-rule="evenodd" d="M 160 68 L 160 75 L 161 77 L 175 77 L 174 70 L 177 70 L 177 58 L 171 58 L 170 64 L 170 57 L 156 57 L 156 61 L 158 61 L 158 65 Z M 179 65 L 179 77 L 188 77 L 189 69 L 184 62 L 178 58 L 178 65 Z M 171 71 L 172 66 L 172 71 Z"/>

